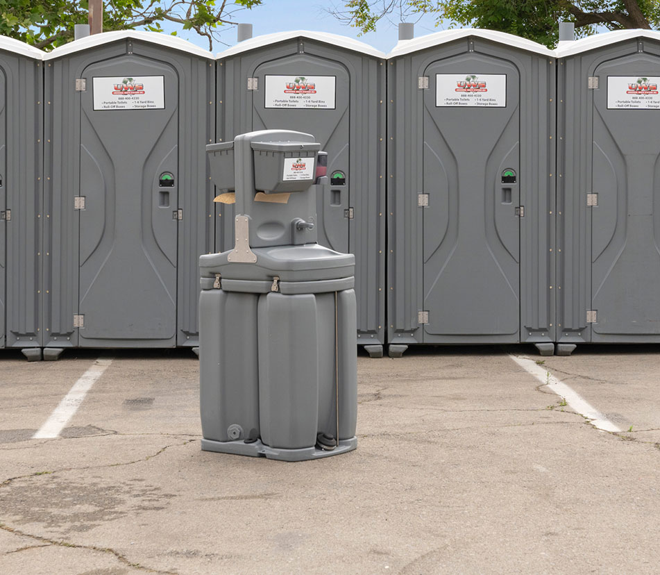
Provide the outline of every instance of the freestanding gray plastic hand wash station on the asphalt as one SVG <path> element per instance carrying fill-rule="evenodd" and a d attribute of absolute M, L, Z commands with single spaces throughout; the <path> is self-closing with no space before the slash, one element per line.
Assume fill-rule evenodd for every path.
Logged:
<path fill-rule="evenodd" d="M 299 461 L 357 447 L 355 256 L 316 243 L 320 147 L 287 130 L 207 146 L 236 216 L 234 247 L 199 258 L 205 451 Z"/>

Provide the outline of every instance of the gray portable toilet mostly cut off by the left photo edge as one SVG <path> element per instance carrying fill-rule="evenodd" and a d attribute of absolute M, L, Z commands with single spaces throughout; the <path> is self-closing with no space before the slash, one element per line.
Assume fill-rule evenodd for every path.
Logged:
<path fill-rule="evenodd" d="M 0 36 L 0 348 L 41 358 L 44 52 Z"/>

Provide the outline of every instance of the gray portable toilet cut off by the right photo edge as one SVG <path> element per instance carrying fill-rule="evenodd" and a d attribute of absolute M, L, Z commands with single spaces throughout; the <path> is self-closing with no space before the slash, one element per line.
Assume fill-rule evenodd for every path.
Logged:
<path fill-rule="evenodd" d="M 660 32 L 557 57 L 557 353 L 660 342 Z"/>

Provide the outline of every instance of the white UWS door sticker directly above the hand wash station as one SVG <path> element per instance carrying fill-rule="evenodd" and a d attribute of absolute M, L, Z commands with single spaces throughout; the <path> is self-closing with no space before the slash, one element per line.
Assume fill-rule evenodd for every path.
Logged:
<path fill-rule="evenodd" d="M 335 76 L 266 75 L 266 108 L 335 109 Z"/>

